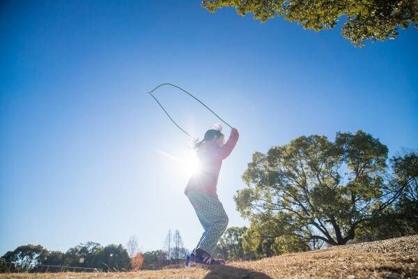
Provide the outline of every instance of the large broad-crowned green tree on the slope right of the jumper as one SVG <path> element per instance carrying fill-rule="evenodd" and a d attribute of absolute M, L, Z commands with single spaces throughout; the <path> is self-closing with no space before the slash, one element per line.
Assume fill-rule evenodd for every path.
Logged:
<path fill-rule="evenodd" d="M 386 178 L 387 153 L 361 130 L 336 133 L 335 142 L 302 136 L 267 154 L 256 152 L 242 176 L 247 187 L 234 197 L 237 209 L 256 225 L 270 224 L 264 240 L 270 248 L 289 235 L 345 244 L 405 189 Z"/>

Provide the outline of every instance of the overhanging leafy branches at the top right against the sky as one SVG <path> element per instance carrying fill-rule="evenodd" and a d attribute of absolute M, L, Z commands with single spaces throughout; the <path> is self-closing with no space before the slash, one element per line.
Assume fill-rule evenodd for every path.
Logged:
<path fill-rule="evenodd" d="M 343 17 L 342 35 L 361 47 L 365 40 L 396 38 L 399 28 L 406 29 L 409 25 L 418 28 L 417 0 L 203 0 L 202 6 L 212 13 L 219 8 L 234 7 L 239 15 L 253 13 L 254 19 L 261 22 L 283 16 L 315 31 L 334 28 Z"/>

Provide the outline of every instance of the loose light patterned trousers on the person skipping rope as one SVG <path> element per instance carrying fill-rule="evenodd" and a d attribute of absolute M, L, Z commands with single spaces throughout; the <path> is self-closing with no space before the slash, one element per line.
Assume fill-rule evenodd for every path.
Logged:
<path fill-rule="evenodd" d="M 224 206 L 216 197 L 198 190 L 189 190 L 187 197 L 192 203 L 203 229 L 205 229 L 196 248 L 201 248 L 212 255 L 217 242 L 228 226 L 228 216 L 226 216 Z"/>

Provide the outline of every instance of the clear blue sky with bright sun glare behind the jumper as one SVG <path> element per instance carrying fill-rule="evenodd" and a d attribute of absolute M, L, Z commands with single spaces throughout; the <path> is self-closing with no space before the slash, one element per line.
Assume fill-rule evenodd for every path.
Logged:
<path fill-rule="evenodd" d="M 418 143 L 418 32 L 355 48 L 332 31 L 260 24 L 200 1 L 6 1 L 0 7 L 0 254 L 26 243 L 185 246 L 201 226 L 183 189 L 185 135 L 145 94 L 171 82 L 240 130 L 218 194 L 254 151 L 300 135 L 365 130 L 391 156 Z M 174 89 L 156 93 L 192 134 L 217 119 Z M 229 129 L 224 128 L 224 133 Z M 162 152 L 160 152 L 162 151 Z"/>

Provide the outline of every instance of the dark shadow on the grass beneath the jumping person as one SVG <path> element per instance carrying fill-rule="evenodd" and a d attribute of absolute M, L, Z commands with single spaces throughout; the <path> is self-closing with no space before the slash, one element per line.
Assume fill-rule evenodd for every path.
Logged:
<path fill-rule="evenodd" d="M 262 272 L 233 266 L 210 266 L 208 269 L 210 272 L 205 276 L 205 279 L 272 279 Z"/>

